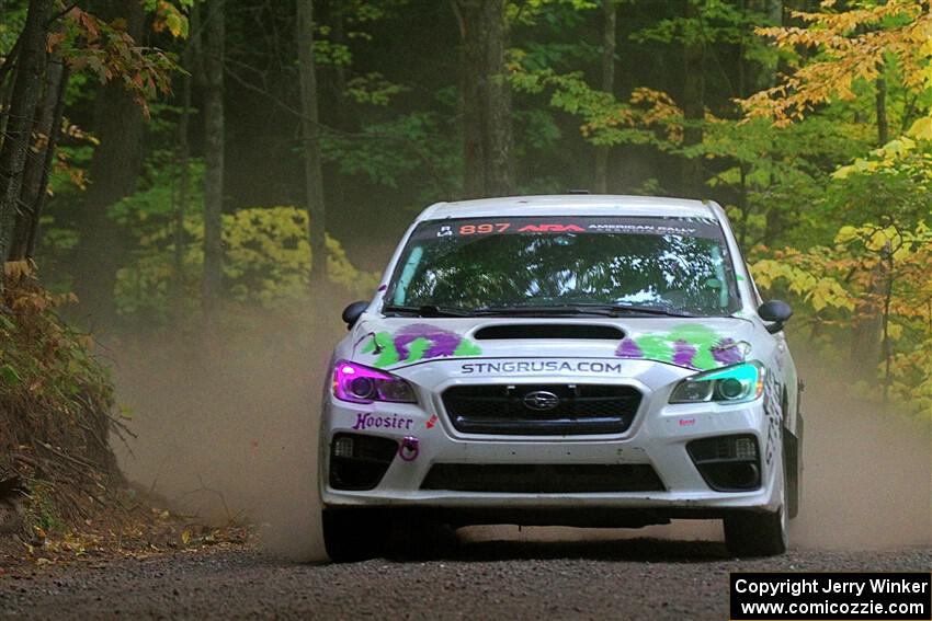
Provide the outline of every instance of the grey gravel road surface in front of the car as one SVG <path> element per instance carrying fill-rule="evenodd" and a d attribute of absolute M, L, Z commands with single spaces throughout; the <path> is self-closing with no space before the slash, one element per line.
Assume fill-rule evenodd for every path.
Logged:
<path fill-rule="evenodd" d="M 728 573 L 761 570 L 928 572 L 932 548 L 738 561 L 713 542 L 474 541 L 439 560 L 345 565 L 206 550 L 0 576 L 0 618 L 725 621 Z"/>

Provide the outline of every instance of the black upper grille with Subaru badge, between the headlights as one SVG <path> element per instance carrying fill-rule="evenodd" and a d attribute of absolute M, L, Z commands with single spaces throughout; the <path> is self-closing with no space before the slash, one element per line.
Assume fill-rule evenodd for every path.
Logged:
<path fill-rule="evenodd" d="M 554 406 L 532 407 L 525 400 L 532 393 L 554 395 Z M 464 434 L 622 434 L 630 427 L 640 398 L 637 389 L 620 384 L 484 384 L 447 389 L 443 405 Z"/>

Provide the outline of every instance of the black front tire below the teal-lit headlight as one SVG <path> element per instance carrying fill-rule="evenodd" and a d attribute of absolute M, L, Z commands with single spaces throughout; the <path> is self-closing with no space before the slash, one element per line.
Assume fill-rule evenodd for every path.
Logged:
<path fill-rule="evenodd" d="M 776 511 L 742 511 L 725 518 L 725 544 L 731 556 L 775 556 L 786 552 L 789 519 L 785 464 L 784 460 L 781 504 Z"/>

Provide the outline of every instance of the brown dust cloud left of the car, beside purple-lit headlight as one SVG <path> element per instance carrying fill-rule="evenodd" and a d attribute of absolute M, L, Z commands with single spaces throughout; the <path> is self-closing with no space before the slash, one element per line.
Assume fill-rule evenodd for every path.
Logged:
<path fill-rule="evenodd" d="M 339 311 L 318 330 L 310 317 L 251 312 L 213 346 L 141 341 L 115 366 L 137 436 L 114 442 L 127 478 L 183 515 L 259 524 L 265 549 L 304 561 L 325 559 L 318 405 L 333 342 L 345 331 Z M 315 345 L 315 333 L 329 338 Z"/>

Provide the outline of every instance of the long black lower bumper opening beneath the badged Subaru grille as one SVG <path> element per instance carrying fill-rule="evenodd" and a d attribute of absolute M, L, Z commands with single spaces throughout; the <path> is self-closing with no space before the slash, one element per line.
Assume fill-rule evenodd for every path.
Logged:
<path fill-rule="evenodd" d="M 596 494 L 662 492 L 663 483 L 647 463 L 535 464 L 436 463 L 421 490 L 502 494 Z"/>

